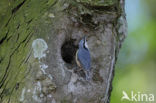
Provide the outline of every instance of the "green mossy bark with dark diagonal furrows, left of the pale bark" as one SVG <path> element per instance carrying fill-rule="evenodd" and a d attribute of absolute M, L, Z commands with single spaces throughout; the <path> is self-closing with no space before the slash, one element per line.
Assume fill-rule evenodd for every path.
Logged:
<path fill-rule="evenodd" d="M 54 0 L 0 2 L 0 102 L 17 103 L 29 72 L 34 27 Z"/>

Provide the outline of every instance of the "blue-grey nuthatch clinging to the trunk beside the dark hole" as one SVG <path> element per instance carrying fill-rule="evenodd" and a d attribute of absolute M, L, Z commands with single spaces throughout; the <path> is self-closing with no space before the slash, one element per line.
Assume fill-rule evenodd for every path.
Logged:
<path fill-rule="evenodd" d="M 86 37 L 83 37 L 79 42 L 79 49 L 76 52 L 76 63 L 80 68 L 84 70 L 86 80 L 89 80 L 91 74 L 91 57 Z"/>

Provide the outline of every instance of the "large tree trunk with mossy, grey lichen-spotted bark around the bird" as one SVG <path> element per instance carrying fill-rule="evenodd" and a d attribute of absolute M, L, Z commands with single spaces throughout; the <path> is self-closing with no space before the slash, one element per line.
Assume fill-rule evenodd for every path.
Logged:
<path fill-rule="evenodd" d="M 109 103 L 126 34 L 124 0 L 0 3 L 1 103 Z M 75 63 L 86 36 L 92 79 Z"/>

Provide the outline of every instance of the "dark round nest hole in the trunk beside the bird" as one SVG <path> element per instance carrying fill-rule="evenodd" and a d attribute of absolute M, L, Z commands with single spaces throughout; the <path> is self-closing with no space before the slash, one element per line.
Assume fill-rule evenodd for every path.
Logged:
<path fill-rule="evenodd" d="M 61 47 L 61 55 L 62 59 L 69 64 L 72 64 L 74 61 L 74 57 L 76 54 L 77 46 L 74 45 L 73 39 L 70 39 L 68 41 L 65 41 L 64 44 Z"/>

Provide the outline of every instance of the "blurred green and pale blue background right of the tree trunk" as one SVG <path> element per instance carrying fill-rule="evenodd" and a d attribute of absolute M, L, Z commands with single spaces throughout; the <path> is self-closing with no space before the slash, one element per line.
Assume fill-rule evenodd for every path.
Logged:
<path fill-rule="evenodd" d="M 126 0 L 128 35 L 115 68 L 110 103 L 138 103 L 123 100 L 122 91 L 156 96 L 156 0 Z M 139 103 L 156 103 L 139 102 Z"/>

